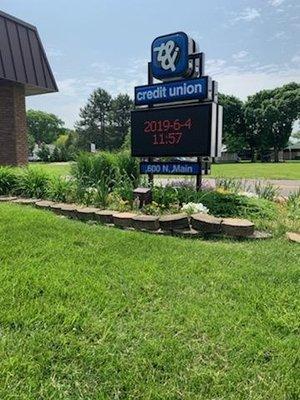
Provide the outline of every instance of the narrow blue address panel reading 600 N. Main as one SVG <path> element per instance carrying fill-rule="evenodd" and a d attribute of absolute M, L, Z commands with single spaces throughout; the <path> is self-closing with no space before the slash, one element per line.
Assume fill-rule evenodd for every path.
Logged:
<path fill-rule="evenodd" d="M 141 174 L 160 175 L 199 175 L 201 168 L 204 172 L 204 165 L 196 162 L 141 162 Z"/>

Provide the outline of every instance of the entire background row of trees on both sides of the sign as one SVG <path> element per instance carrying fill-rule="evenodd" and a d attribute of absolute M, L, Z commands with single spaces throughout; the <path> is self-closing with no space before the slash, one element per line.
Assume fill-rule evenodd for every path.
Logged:
<path fill-rule="evenodd" d="M 263 160 L 284 149 L 300 115 L 300 85 L 289 83 L 272 90 L 262 90 L 243 102 L 235 96 L 219 95 L 224 107 L 223 143 L 229 152 L 248 151 L 251 161 Z M 130 111 L 133 101 L 127 94 L 112 97 L 98 88 L 80 109 L 75 129 L 64 127 L 64 122 L 53 114 L 29 110 L 27 122 L 30 148 L 35 143 L 47 153 L 46 144 L 54 144 L 44 158 L 65 161 L 75 157 L 79 150 L 90 150 L 91 143 L 98 150 L 117 150 L 130 142 Z M 54 153 L 54 154 L 53 154 Z"/>

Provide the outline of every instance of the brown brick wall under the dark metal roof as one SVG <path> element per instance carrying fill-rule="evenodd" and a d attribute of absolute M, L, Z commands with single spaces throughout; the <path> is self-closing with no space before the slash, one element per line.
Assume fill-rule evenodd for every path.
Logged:
<path fill-rule="evenodd" d="M 0 165 L 24 165 L 28 160 L 25 89 L 0 84 Z"/>

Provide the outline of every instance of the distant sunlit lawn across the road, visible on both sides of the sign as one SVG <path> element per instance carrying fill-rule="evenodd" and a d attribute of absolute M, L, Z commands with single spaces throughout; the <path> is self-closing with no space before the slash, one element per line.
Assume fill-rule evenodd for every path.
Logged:
<path fill-rule="evenodd" d="M 39 166 L 55 175 L 68 175 L 71 169 L 71 163 L 31 163 L 30 165 Z M 300 179 L 300 162 L 214 164 L 212 174 L 209 177 L 219 176 L 254 179 Z"/>

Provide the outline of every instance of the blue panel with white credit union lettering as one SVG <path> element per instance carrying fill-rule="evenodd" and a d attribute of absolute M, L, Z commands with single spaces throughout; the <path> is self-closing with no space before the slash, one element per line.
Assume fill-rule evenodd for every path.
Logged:
<path fill-rule="evenodd" d="M 212 100 L 211 78 L 204 76 L 135 88 L 134 101 L 136 106 L 186 100 Z"/>

